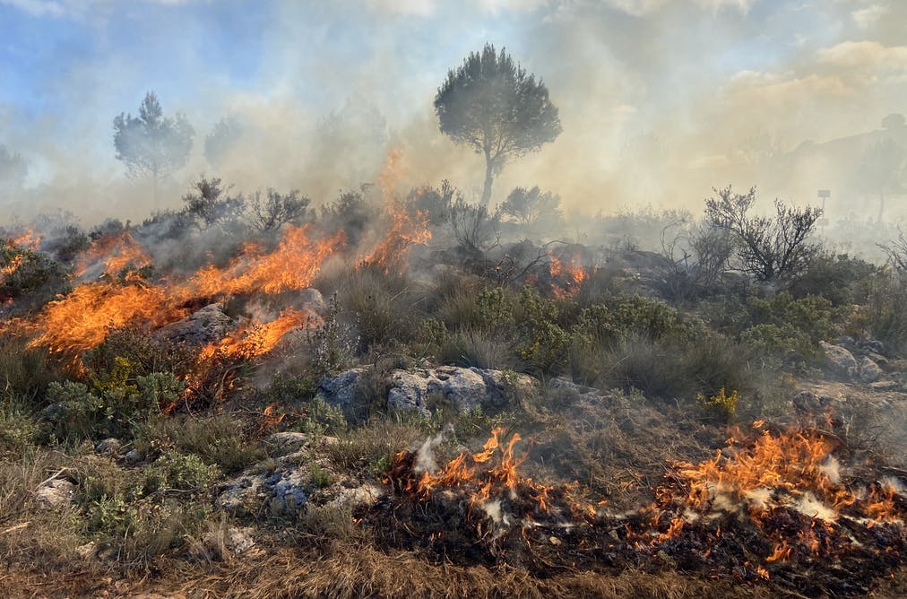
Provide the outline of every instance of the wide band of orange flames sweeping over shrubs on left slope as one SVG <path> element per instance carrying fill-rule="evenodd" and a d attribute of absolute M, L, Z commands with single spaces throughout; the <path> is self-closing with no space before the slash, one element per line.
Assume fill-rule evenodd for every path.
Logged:
<path fill-rule="evenodd" d="M 273 252 L 247 247 L 248 253 L 233 260 L 228 268 L 209 266 L 182 282 L 146 283 L 130 270 L 124 276 L 125 284 L 112 280 L 84 283 L 44 307 L 32 323 L 35 336 L 31 345 L 79 353 L 98 346 L 111 329 L 136 325 L 153 329 L 180 319 L 186 316 L 181 306 L 191 300 L 305 289 L 322 262 L 342 247 L 345 239 L 340 231 L 327 239 L 312 241 L 307 227 L 298 227 L 288 229 Z M 80 260 L 83 272 L 102 264 L 103 271 L 111 275 L 149 263 L 128 233 L 97 244 Z M 219 349 L 232 355 L 261 355 L 305 319 L 301 312 L 288 310 L 272 322 L 224 339 Z"/>

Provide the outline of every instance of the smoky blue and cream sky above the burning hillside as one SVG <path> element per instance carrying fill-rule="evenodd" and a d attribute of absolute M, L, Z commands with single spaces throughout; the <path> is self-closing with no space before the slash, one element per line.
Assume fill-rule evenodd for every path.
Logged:
<path fill-rule="evenodd" d="M 571 211 L 696 211 L 727 184 L 794 204 L 832 187 L 844 215 L 870 196 L 842 174 L 854 164 L 804 148 L 907 113 L 904 23 L 902 0 L 0 0 L 0 145 L 27 165 L 0 209 L 137 219 L 201 173 L 318 203 L 374 182 L 391 147 L 402 189 L 476 194 L 483 160 L 438 131 L 432 102 L 491 43 L 541 78 L 563 126 L 503 170 L 497 201 L 539 185 Z M 148 91 L 196 132 L 156 206 L 112 144 Z M 212 163 L 225 116 L 242 133 Z"/>

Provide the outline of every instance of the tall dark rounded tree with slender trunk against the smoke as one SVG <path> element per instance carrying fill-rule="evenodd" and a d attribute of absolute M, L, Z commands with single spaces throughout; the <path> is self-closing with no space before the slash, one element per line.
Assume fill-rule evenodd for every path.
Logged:
<path fill-rule="evenodd" d="M 496 53 L 492 44 L 448 71 L 434 96 L 434 110 L 441 133 L 484 155 L 483 204 L 491 200 L 493 177 L 508 160 L 538 150 L 561 134 L 548 88 L 504 49 Z"/>

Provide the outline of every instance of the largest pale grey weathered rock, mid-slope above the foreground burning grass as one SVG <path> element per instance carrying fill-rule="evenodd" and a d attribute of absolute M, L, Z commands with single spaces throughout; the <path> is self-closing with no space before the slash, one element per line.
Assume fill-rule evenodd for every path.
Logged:
<path fill-rule="evenodd" d="M 502 406 L 506 403 L 510 385 L 500 370 L 440 366 L 420 368 L 413 372 L 392 370 L 387 407 L 397 410 L 417 410 L 429 415 L 428 398 L 444 398 L 458 411 L 465 412 L 476 406 Z M 516 375 L 517 392 L 532 389 L 532 378 Z"/>

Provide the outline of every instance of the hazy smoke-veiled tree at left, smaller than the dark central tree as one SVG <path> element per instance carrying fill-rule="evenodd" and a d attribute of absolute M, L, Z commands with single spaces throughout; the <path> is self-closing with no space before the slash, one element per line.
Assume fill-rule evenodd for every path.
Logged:
<path fill-rule="evenodd" d="M 116 158 L 126 165 L 130 177 L 150 176 L 155 184 L 161 177 L 179 170 L 189 159 L 195 131 L 182 113 L 163 115 L 154 92 L 145 94 L 139 116 L 120 113 L 113 119 Z"/>

